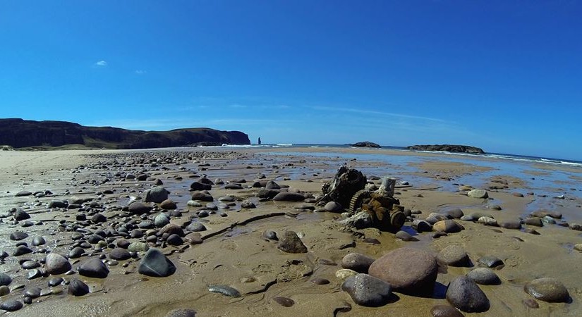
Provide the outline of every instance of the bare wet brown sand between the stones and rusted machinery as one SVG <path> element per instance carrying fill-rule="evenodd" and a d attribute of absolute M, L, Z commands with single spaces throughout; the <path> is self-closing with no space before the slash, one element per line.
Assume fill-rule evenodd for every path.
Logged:
<path fill-rule="evenodd" d="M 169 151 L 176 152 L 169 152 Z M 295 207 L 300 203 L 259 201 L 258 188 L 248 188 L 257 175 L 265 174 L 264 180 L 275 180 L 279 185 L 289 185 L 290 191 L 299 190 L 321 194 L 325 180 L 333 177 L 337 168 L 344 163 L 352 168 L 377 171 L 374 175 L 384 176 L 389 171 L 401 180 L 411 180 L 412 187 L 397 189 L 396 198 L 401 205 L 425 218 L 429 213 L 459 207 L 463 213 L 488 213 L 500 223 L 525 217 L 532 211 L 547 209 L 564 214 L 563 221 L 582 223 L 581 199 L 570 192 L 567 199 L 529 195 L 532 189 L 528 180 L 504 175 L 503 171 L 493 170 L 490 166 L 480 166 L 479 161 L 467 163 L 449 162 L 445 154 L 411 154 L 403 151 L 376 151 L 373 149 L 333 149 L 350 156 L 353 154 L 372 154 L 382 156 L 419 156 L 428 161 L 419 161 L 401 166 L 382 163 L 382 161 L 362 161 L 344 156 L 329 155 L 329 158 L 310 156 L 310 153 L 325 154 L 329 149 L 277 150 L 265 154 L 264 149 L 171 149 L 155 150 L 154 161 L 149 151 L 42 151 L 42 152 L 0 152 L 0 199 L 1 213 L 11 208 L 27 211 L 32 226 L 22 228 L 21 223 L 11 220 L 10 216 L 0 223 L 2 235 L 1 250 L 8 256 L 1 264 L 4 273 L 13 277 L 9 285 L 11 293 L 0 298 L 22 301 L 22 292 L 30 286 L 43 290 L 55 289 L 46 296 L 32 299 L 23 309 L 13 312 L 16 316 L 35 316 L 53 311 L 59 316 L 164 316 L 171 309 L 190 308 L 199 316 L 430 316 L 430 309 L 437 304 L 447 304 L 444 299 L 446 285 L 456 276 L 464 275 L 471 268 L 442 267 L 437 278 L 435 292 L 430 298 L 413 297 L 395 293 L 394 301 L 385 306 L 368 308 L 358 306 L 351 297 L 341 290 L 343 281 L 335 277 L 341 268 L 341 259 L 348 253 L 358 252 L 379 258 L 399 247 L 412 247 L 438 251 L 451 244 L 463 247 L 471 261 L 477 266 L 481 256 L 493 255 L 504 261 L 504 267 L 495 273 L 502 279 L 501 285 L 480 288 L 490 300 L 490 309 L 481 313 L 486 316 L 577 316 L 582 311 L 580 300 L 582 277 L 582 254 L 573 249 L 574 244 L 582 243 L 581 232 L 559 225 L 532 227 L 540 235 L 532 235 L 523 230 L 509 230 L 485 226 L 471 221 L 458 220 L 465 230 L 437 239 L 433 232 L 415 235 L 418 242 L 404 242 L 394 238 L 389 232 L 375 229 L 346 230 L 339 225 L 338 213 L 303 211 Z M 272 150 L 270 150 L 272 152 Z M 299 152 L 299 154 L 295 154 Z M 170 153 L 170 154 L 166 154 Z M 185 154 L 186 153 L 186 154 Z M 303 155 L 303 154 L 304 155 Z M 96 155 L 97 154 L 97 155 Z M 180 156 L 184 154 L 184 156 Z M 191 155 L 190 155 L 191 154 Z M 188 156 L 190 155 L 190 156 Z M 179 156 L 179 160 L 160 159 Z M 396 160 L 396 159 L 394 159 Z M 494 162 L 492 159 L 485 159 Z M 411 172 L 408 168 L 416 168 Z M 538 170 L 542 169 L 542 170 Z M 580 177 L 578 170 L 566 168 L 528 167 L 532 175 L 545 175 L 557 171 L 571 173 Z M 493 172 L 482 176 L 485 172 Z M 119 176 L 116 176 L 119 173 Z M 145 173 L 147 180 L 126 180 L 126 173 Z M 370 175 L 370 173 L 365 173 Z M 90 286 L 91 294 L 72 297 L 66 294 L 66 285 L 48 287 L 49 278 L 27 280 L 28 270 L 20 268 L 22 259 L 41 260 L 44 253 L 12 256 L 16 241 L 8 238 L 16 229 L 28 232 L 30 242 L 34 236 L 47 240 L 44 249 L 59 254 L 68 254 L 72 245 L 73 232 L 63 229 L 62 224 L 75 223 L 76 209 L 47 209 L 49 201 L 70 199 L 72 196 L 85 197 L 97 201 L 100 213 L 107 217 L 107 223 L 87 225 L 90 231 L 123 223 L 128 216 L 122 207 L 131 197 L 143 197 L 143 191 L 153 186 L 159 179 L 176 202 L 182 216 L 171 217 L 171 223 L 183 226 L 190 218 L 197 217 L 200 208 L 186 205 L 190 200 L 189 186 L 200 176 L 207 175 L 214 180 L 234 180 L 244 178 L 243 189 L 223 189 L 214 185 L 210 190 L 215 203 L 224 195 L 234 195 L 236 204 L 225 210 L 226 216 L 211 214 L 202 218 L 207 227 L 200 232 L 204 242 L 179 247 L 159 245 L 164 254 L 176 266 L 176 273 L 166 278 L 152 278 L 138 273 L 138 259 L 119 261 L 109 266 L 107 278 L 86 278 L 74 273 L 62 275 L 66 280 L 79 278 Z M 468 175 L 471 176 L 468 178 Z M 107 179 L 107 182 L 104 180 Z M 483 186 L 458 183 L 459 179 L 475 180 Z M 414 181 L 412 181 L 414 180 Z M 378 184 L 378 181 L 375 181 Z M 496 189 L 487 185 L 499 185 Z M 457 188 L 471 185 L 489 189 L 491 199 L 474 199 L 459 194 Z M 571 185 L 571 184 L 569 184 Z M 555 192 L 562 185 L 555 184 Z M 570 186 L 566 187 L 571 190 Z M 20 190 L 30 192 L 50 189 L 51 195 L 35 198 L 32 196 L 14 197 Z M 111 194 L 102 194 L 105 190 Z M 574 188 L 576 189 L 576 188 Z M 578 185 L 578 190 L 579 185 Z M 548 190 L 553 190 L 550 188 Z M 523 197 L 513 193 L 521 192 Z M 256 204 L 256 209 L 241 209 L 241 201 L 248 199 Z M 205 203 L 202 203 L 205 204 Z M 498 204 L 502 210 L 487 208 Z M 155 216 L 160 211 L 152 211 Z M 562 220 L 559 220 L 562 221 Z M 60 226 L 59 226 L 60 225 Z M 411 223 L 404 229 L 413 232 Z M 284 230 L 300 232 L 303 243 L 308 247 L 307 254 L 288 254 L 277 249 L 277 242 L 262 238 L 262 232 L 273 230 L 282 235 Z M 144 230 L 145 231 L 145 230 Z M 217 234 L 219 232 L 219 234 Z M 414 233 L 414 232 L 413 232 Z M 111 243 L 120 237 L 112 237 Z M 380 244 L 364 242 L 364 238 L 375 238 Z M 129 239 L 133 242 L 139 239 Z M 40 247 L 33 247 L 40 249 Z M 92 249 L 94 249 L 92 251 Z M 71 259 L 73 268 L 85 259 L 107 255 L 109 248 L 92 246 L 87 255 Z M 107 257 L 104 256 L 107 260 Z M 327 260 L 327 261 L 321 261 Z M 336 263 L 336 266 L 327 265 Z M 535 278 L 551 277 L 560 280 L 569 290 L 571 303 L 550 304 L 538 301 L 539 308 L 531 309 L 523 304 L 531 297 L 523 291 L 523 285 Z M 327 285 L 310 282 L 313 278 L 329 280 Z M 241 292 L 238 298 L 208 292 L 209 285 L 229 285 Z M 59 294 L 59 290 L 63 290 Z M 56 293 L 56 294 L 55 294 Z M 291 307 L 274 302 L 275 297 L 293 299 Z M 465 313 L 472 316 L 471 313 Z M 477 315 L 476 313 L 474 315 Z"/>

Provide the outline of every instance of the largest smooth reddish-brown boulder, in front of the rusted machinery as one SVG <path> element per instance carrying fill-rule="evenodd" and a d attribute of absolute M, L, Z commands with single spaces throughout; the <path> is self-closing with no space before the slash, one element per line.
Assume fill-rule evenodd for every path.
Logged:
<path fill-rule="evenodd" d="M 432 294 L 437 279 L 437 259 L 427 251 L 400 248 L 372 263 L 370 275 L 389 282 L 404 294 Z"/>

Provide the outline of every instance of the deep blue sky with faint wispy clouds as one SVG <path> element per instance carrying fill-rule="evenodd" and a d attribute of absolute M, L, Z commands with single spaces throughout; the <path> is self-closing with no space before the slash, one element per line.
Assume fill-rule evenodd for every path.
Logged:
<path fill-rule="evenodd" d="M 582 1 L 0 0 L 0 118 L 582 161 Z"/>

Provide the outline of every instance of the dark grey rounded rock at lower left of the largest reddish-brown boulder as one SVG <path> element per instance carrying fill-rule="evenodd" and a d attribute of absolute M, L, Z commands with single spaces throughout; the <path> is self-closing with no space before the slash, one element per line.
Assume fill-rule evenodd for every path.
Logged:
<path fill-rule="evenodd" d="M 388 304 L 392 294 L 392 287 L 389 283 L 361 273 L 347 278 L 341 284 L 341 290 L 347 292 L 356 304 L 368 307 Z"/>

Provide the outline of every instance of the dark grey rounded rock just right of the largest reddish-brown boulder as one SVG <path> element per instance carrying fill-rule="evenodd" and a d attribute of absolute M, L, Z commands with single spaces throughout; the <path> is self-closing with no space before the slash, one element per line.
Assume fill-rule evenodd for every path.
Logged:
<path fill-rule="evenodd" d="M 485 293 L 466 276 L 459 276 L 449 283 L 446 297 L 449 303 L 467 313 L 489 310 L 489 299 Z"/>

